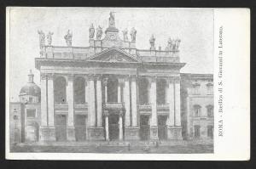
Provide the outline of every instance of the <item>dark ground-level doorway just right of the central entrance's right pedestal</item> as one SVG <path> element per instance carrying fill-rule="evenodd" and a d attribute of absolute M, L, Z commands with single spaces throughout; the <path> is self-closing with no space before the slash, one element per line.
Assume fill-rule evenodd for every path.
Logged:
<path fill-rule="evenodd" d="M 140 138 L 148 140 L 150 136 L 149 115 L 140 116 Z"/>

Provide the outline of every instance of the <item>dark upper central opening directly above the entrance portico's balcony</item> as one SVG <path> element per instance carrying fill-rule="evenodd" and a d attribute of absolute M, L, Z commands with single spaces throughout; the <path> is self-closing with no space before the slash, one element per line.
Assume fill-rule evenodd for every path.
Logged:
<path fill-rule="evenodd" d="M 108 102 L 118 102 L 118 79 L 108 79 Z"/>

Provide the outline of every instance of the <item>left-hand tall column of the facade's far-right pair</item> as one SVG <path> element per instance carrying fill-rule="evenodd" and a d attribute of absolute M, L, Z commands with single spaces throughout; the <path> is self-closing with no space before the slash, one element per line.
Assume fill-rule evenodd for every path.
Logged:
<path fill-rule="evenodd" d="M 174 126 L 174 84 L 171 80 L 169 80 L 169 89 L 168 89 L 168 95 L 169 95 L 169 117 L 168 117 L 168 126 Z"/>

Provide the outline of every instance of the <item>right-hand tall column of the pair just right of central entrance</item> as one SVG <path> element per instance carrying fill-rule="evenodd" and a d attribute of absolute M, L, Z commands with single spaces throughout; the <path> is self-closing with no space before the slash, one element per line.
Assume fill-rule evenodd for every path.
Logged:
<path fill-rule="evenodd" d="M 131 126 L 137 127 L 137 82 L 136 77 L 131 78 Z"/>

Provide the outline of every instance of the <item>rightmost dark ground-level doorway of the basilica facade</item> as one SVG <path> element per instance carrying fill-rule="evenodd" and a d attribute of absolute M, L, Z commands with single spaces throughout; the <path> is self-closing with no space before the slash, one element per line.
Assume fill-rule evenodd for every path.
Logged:
<path fill-rule="evenodd" d="M 157 119 L 158 119 L 158 138 L 160 140 L 165 140 L 167 138 L 167 126 L 166 126 L 167 115 L 159 115 Z"/>

